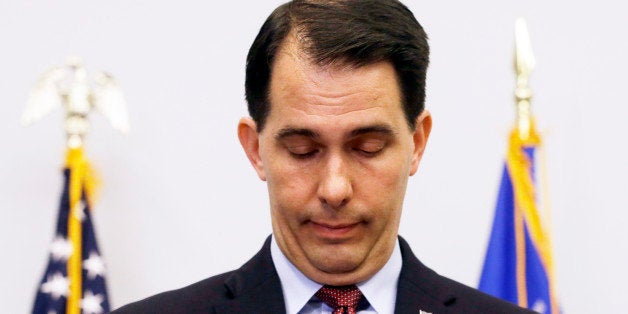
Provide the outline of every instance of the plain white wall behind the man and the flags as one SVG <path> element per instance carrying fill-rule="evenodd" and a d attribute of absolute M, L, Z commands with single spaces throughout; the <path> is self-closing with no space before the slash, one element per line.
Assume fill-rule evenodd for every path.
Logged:
<path fill-rule="evenodd" d="M 123 137 L 95 116 L 104 180 L 94 216 L 114 307 L 241 265 L 270 232 L 265 185 L 235 128 L 244 60 L 282 1 L 0 3 L 0 304 L 30 311 L 61 189 L 61 113 L 18 121 L 29 88 L 69 54 L 112 72 Z M 513 25 L 538 67 L 558 288 L 565 313 L 616 313 L 628 281 L 628 19 L 620 1 L 406 1 L 428 34 L 434 130 L 400 233 L 440 273 L 476 286 L 514 117 Z M 238 232 L 240 235 L 236 235 Z"/>

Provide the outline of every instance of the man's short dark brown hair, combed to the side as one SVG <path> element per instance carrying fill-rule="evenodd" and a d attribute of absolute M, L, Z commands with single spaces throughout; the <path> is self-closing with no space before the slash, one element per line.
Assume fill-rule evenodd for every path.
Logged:
<path fill-rule="evenodd" d="M 262 131 L 270 111 L 269 88 L 275 56 L 291 31 L 300 49 L 318 65 L 363 66 L 390 62 L 403 94 L 411 129 L 423 111 L 429 45 L 423 27 L 397 0 L 294 0 L 264 22 L 246 60 L 246 101 Z"/>

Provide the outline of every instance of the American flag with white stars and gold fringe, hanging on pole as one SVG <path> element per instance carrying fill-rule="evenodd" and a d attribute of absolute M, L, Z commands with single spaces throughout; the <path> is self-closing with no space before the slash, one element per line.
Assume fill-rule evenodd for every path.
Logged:
<path fill-rule="evenodd" d="M 33 313 L 107 313 L 105 265 L 94 235 L 85 187 L 87 163 L 80 150 L 70 151 L 68 156 L 57 228 Z"/>

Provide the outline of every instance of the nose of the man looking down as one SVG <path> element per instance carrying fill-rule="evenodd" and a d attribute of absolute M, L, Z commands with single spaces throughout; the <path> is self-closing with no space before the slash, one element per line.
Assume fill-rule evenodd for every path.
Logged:
<path fill-rule="evenodd" d="M 342 209 L 353 195 L 349 169 L 342 156 L 330 156 L 321 173 L 318 197 L 323 206 Z"/>

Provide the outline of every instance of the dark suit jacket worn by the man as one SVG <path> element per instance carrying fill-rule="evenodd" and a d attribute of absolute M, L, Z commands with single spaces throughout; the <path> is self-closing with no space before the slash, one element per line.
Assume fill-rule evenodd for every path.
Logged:
<path fill-rule="evenodd" d="M 395 313 L 533 313 L 438 275 L 399 238 L 403 266 Z M 129 304 L 114 313 L 285 313 L 270 237 L 240 269 Z M 383 313 L 385 314 L 385 313 Z"/>

